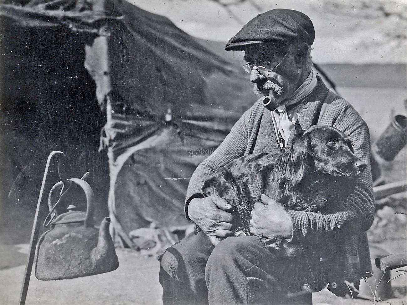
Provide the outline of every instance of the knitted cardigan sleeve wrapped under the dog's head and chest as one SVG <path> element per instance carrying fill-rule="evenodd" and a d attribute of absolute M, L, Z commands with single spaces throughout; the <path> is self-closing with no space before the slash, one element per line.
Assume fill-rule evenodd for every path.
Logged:
<path fill-rule="evenodd" d="M 348 196 L 336 202 L 328 202 L 320 213 L 290 210 L 293 233 L 298 237 L 312 237 L 315 233 L 336 232 L 342 235 L 367 231 L 375 213 L 368 126 L 344 99 L 329 105 L 321 124 L 342 130 L 352 141 L 354 154 L 368 166 L 356 180 L 355 187 Z"/>

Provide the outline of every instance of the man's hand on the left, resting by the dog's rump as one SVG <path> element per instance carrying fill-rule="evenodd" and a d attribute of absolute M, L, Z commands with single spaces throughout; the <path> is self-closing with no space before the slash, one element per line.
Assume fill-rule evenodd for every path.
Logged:
<path fill-rule="evenodd" d="M 188 216 L 209 237 L 233 235 L 232 206 L 218 195 L 194 198 L 188 205 Z"/>

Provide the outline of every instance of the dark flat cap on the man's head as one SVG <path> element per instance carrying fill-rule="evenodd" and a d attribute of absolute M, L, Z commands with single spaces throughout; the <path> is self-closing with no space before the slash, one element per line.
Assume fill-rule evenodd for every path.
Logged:
<path fill-rule="evenodd" d="M 292 9 L 272 9 L 257 15 L 225 46 L 225 50 L 244 50 L 264 42 L 306 42 L 313 44 L 315 30 L 307 15 Z"/>

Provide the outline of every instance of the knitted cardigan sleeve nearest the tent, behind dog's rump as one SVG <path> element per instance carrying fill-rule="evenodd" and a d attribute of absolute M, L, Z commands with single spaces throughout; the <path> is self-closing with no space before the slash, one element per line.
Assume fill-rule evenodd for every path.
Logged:
<path fill-rule="evenodd" d="M 202 191 L 205 180 L 212 173 L 245 153 L 249 141 L 249 122 L 254 106 L 239 118 L 219 147 L 195 169 L 188 184 L 185 200 L 185 217 L 188 220 L 190 220 L 188 217 L 189 202 L 193 198 L 205 197 Z"/>

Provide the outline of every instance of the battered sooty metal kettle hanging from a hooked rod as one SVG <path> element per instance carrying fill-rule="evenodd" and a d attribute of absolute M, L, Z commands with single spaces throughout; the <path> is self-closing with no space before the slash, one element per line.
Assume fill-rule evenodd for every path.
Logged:
<path fill-rule="evenodd" d="M 103 219 L 99 228 L 94 227 L 94 193 L 90 185 L 79 178 L 68 179 L 68 182 L 85 193 L 86 213 L 75 211 L 76 207 L 71 204 L 68 212 L 50 222 L 50 229 L 39 238 L 37 246 L 35 276 L 39 280 L 73 279 L 113 271 L 119 266 L 109 234 L 109 217 Z M 50 213 L 58 204 L 59 200 L 54 202 L 63 187 L 62 181 L 52 187 L 48 196 Z"/>

